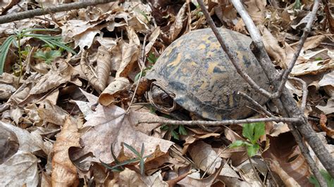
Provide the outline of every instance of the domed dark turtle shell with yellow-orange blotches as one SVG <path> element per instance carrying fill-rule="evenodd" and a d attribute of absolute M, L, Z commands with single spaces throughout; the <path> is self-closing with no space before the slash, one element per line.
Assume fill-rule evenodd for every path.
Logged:
<path fill-rule="evenodd" d="M 262 88 L 268 90 L 268 79 L 249 45 L 249 37 L 218 29 L 238 63 Z M 266 103 L 240 75 L 218 43 L 211 29 L 194 30 L 175 40 L 147 72 L 175 94 L 174 101 L 190 112 L 209 120 L 243 119 L 254 113 L 249 101 L 237 95 L 246 93 L 260 104 Z"/>

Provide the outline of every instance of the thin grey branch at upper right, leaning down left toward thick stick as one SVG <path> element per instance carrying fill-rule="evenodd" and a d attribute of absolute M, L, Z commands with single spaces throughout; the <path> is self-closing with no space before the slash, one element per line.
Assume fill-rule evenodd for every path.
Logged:
<path fill-rule="evenodd" d="M 302 51 L 302 47 L 307 39 L 307 36 L 309 35 L 309 32 L 311 32 L 311 27 L 313 25 L 314 22 L 314 18 L 316 18 L 316 11 L 318 11 L 319 8 L 319 1 L 315 0 L 314 4 L 313 4 L 313 8 L 312 8 L 312 12 L 311 15 L 309 17 L 309 20 L 307 21 L 307 25 L 304 28 L 304 32 L 302 34 L 302 37 L 299 40 L 299 43 L 297 45 L 297 50 L 295 52 L 295 54 L 293 54 L 292 60 L 289 64 L 289 66 L 287 67 L 287 70 L 285 70 L 283 77 L 282 77 L 282 81 L 280 82 L 280 86 L 278 86 L 278 90 L 276 93 L 273 93 L 273 97 L 278 98 L 280 96 L 280 94 L 282 94 L 283 88 L 285 86 L 285 83 L 287 82 L 287 77 L 290 75 L 290 72 L 292 71 L 292 68 L 295 66 L 295 63 L 297 61 L 297 58 L 299 56 L 300 51 Z"/>

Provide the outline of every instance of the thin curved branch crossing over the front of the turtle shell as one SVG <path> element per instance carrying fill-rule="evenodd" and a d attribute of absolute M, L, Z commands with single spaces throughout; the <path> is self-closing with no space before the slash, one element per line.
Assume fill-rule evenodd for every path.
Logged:
<path fill-rule="evenodd" d="M 216 35 L 216 37 L 219 41 L 219 44 L 221 44 L 221 47 L 223 48 L 225 53 L 228 55 L 228 58 L 230 58 L 231 62 L 233 63 L 233 65 L 235 67 L 235 69 L 237 70 L 237 73 L 243 79 L 245 79 L 245 81 L 250 86 L 252 86 L 253 89 L 255 89 L 256 91 L 259 91 L 259 93 L 266 96 L 267 98 L 271 98 L 271 93 L 269 93 L 265 89 L 262 89 L 259 85 L 256 84 L 256 82 L 254 82 L 254 80 L 251 77 L 249 77 L 249 75 L 247 75 L 247 73 L 244 70 L 242 70 L 242 67 L 239 65 L 239 63 L 237 63 L 237 61 L 238 61 L 237 60 L 237 53 L 230 50 L 230 47 L 228 46 L 228 44 L 225 44 L 225 40 L 223 40 L 223 37 L 221 37 L 221 34 L 219 33 L 216 25 L 214 25 L 214 20 L 212 20 L 211 16 L 209 15 L 209 12 L 206 10 L 204 2 L 202 0 L 197 0 L 197 2 L 199 3 L 199 6 L 201 7 L 202 12 L 204 13 L 206 21 L 209 23 L 209 25 L 211 27 L 211 30 Z"/>

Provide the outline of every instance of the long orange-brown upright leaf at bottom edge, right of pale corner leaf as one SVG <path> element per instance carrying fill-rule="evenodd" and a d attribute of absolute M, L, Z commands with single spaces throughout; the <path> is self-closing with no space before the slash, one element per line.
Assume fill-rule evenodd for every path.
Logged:
<path fill-rule="evenodd" d="M 66 118 L 61 133 L 54 143 L 54 157 L 52 158 L 52 186 L 78 186 L 77 169 L 70 160 L 68 149 L 80 147 L 78 127 L 70 117 Z"/>

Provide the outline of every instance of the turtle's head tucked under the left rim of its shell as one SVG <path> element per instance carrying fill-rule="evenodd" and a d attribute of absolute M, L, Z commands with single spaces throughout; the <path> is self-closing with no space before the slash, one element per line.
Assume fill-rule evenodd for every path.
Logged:
<path fill-rule="evenodd" d="M 176 103 L 174 101 L 175 94 L 168 91 L 166 87 L 158 82 L 152 82 L 151 89 L 147 92 L 149 103 L 163 113 L 169 113 L 175 110 Z"/>

